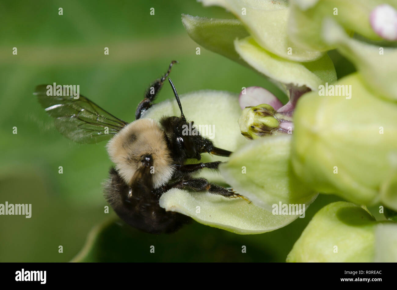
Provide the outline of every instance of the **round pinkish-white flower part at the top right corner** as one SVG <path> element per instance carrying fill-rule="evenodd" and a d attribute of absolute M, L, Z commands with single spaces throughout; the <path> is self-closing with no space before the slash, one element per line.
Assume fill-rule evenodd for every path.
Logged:
<path fill-rule="evenodd" d="M 370 14 L 372 29 L 387 40 L 397 40 L 397 11 L 389 4 L 375 7 Z"/>

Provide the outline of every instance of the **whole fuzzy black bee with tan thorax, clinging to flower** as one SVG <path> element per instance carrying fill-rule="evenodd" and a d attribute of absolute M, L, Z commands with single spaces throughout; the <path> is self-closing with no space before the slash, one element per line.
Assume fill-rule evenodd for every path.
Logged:
<path fill-rule="evenodd" d="M 190 221 L 187 216 L 160 207 L 159 198 L 172 188 L 243 198 L 233 189 L 192 177 L 204 168 L 218 170 L 222 162 L 185 164 L 188 159 L 200 160 L 203 153 L 229 156 L 231 152 L 215 147 L 200 134 L 190 131 L 186 134 L 183 129 L 193 128 L 194 122 L 185 118 L 171 78 L 168 80 L 181 116 L 163 116 L 158 122 L 141 118 L 155 105 L 153 102 L 176 62 L 172 61 L 168 71 L 150 84 L 131 123 L 108 113 L 83 95 L 78 99 L 73 95 L 48 96 L 47 85 L 37 86 L 34 93 L 65 137 L 78 143 L 109 140 L 106 149 L 115 167 L 110 168 L 104 183 L 104 198 L 123 221 L 147 233 L 171 233 Z"/>

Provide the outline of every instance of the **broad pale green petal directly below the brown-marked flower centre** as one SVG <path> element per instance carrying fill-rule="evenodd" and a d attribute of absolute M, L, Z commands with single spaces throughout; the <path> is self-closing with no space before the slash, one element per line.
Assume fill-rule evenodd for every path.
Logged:
<path fill-rule="evenodd" d="M 279 202 L 307 208 L 317 193 L 295 177 L 290 151 L 291 135 L 262 137 L 233 153 L 220 172 L 235 191 L 266 210 Z"/>

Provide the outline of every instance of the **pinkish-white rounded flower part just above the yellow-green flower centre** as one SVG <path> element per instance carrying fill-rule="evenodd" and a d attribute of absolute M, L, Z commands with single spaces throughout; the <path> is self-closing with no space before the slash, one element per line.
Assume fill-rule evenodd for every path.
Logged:
<path fill-rule="evenodd" d="M 261 104 L 271 105 L 275 110 L 283 106 L 279 99 L 268 90 L 261 87 L 248 87 L 239 95 L 241 109 L 254 107 Z"/>

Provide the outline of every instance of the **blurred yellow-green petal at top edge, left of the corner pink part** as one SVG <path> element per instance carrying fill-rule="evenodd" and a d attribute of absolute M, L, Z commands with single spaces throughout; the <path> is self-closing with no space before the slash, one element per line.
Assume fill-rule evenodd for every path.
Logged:
<path fill-rule="evenodd" d="M 370 25 L 371 11 L 385 0 L 291 0 L 288 33 L 302 48 L 327 51 L 335 44 L 324 41 L 322 25 L 331 18 L 346 31 L 354 31 L 372 40 L 380 40 Z M 335 15 L 337 13 L 337 15 Z"/>

